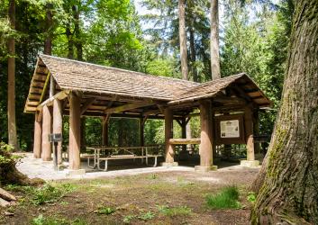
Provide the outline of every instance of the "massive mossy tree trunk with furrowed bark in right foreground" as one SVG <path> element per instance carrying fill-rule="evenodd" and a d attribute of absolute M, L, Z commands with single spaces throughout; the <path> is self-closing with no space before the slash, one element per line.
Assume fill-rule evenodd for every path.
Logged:
<path fill-rule="evenodd" d="M 295 1 L 282 105 L 253 224 L 318 224 L 317 23 L 318 2 Z"/>

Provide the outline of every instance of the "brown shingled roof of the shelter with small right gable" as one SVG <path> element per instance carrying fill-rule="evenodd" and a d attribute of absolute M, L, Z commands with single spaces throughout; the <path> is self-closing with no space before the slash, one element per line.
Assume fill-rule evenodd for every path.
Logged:
<path fill-rule="evenodd" d="M 185 103 L 219 94 L 229 85 L 241 85 L 250 100 L 261 106 L 270 101 L 246 74 L 227 76 L 204 84 L 182 79 L 151 76 L 115 67 L 104 67 L 86 62 L 40 55 L 32 77 L 32 84 L 25 104 L 25 112 L 35 112 L 45 94 L 48 74 L 56 80 L 60 90 L 82 93 L 129 96 L 151 99 L 163 103 Z"/>

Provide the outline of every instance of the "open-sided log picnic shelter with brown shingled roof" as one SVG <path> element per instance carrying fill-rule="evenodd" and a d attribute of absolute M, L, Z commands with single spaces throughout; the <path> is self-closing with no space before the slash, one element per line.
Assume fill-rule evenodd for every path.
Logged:
<path fill-rule="evenodd" d="M 242 112 L 240 124 L 244 124 L 241 124 L 243 137 L 240 138 L 247 144 L 247 159 L 253 161 L 255 115 L 259 108 L 270 104 L 258 85 L 244 73 L 199 84 L 40 55 L 24 112 L 35 113 L 34 157 L 42 157 L 43 160 L 51 160 L 48 135 L 62 132 L 62 117 L 69 115 L 70 169 L 80 168 L 80 117 L 85 115 L 103 118 L 104 144 L 107 144 L 110 117 L 140 119 L 141 144 L 144 122 L 147 119 L 163 119 L 165 165 L 175 163 L 176 144 L 200 143 L 200 166 L 197 168 L 208 170 L 213 166 L 213 148 L 218 137 L 216 115 L 231 116 L 235 112 L 237 116 L 237 112 Z M 186 123 L 194 116 L 195 109 L 200 110 L 201 137 L 186 139 Z M 182 127 L 183 139 L 173 139 L 173 120 Z M 59 145 L 59 152 L 60 148 Z"/>

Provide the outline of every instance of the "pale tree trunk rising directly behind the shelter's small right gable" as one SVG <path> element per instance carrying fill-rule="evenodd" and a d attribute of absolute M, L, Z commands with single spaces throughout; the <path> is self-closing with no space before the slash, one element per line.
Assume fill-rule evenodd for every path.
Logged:
<path fill-rule="evenodd" d="M 211 73 L 212 79 L 221 78 L 220 57 L 219 57 L 219 3 L 218 0 L 211 0 Z"/>

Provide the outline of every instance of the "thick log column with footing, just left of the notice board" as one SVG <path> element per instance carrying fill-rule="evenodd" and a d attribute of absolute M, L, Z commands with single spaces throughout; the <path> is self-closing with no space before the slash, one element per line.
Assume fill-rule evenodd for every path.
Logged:
<path fill-rule="evenodd" d="M 213 122 L 210 101 L 206 100 L 200 103 L 200 121 L 200 166 L 195 166 L 195 171 L 207 172 L 210 170 L 216 170 L 217 166 L 213 165 Z"/>

